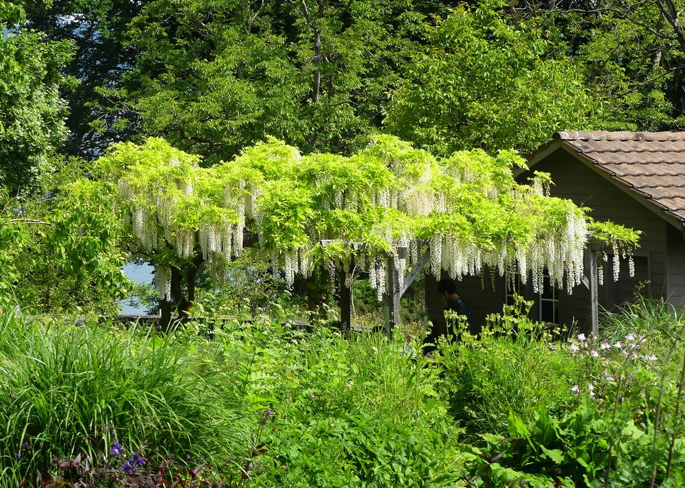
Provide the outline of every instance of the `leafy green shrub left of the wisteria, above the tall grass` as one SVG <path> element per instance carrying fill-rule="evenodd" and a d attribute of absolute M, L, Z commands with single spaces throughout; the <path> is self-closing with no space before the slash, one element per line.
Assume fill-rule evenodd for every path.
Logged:
<path fill-rule="evenodd" d="M 81 179 L 55 198 L 0 194 L 0 307 L 110 313 L 129 281 L 121 266 L 123 233 L 112 191 Z"/>

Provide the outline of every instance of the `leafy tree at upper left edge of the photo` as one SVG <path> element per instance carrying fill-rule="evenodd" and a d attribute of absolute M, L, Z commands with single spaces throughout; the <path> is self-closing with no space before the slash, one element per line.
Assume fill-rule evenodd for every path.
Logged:
<path fill-rule="evenodd" d="M 49 154 L 66 137 L 59 90 L 71 85 L 60 74 L 69 42 L 13 27 L 23 20 L 18 5 L 0 3 L 0 185 L 12 195 L 30 192 L 51 169 Z"/>

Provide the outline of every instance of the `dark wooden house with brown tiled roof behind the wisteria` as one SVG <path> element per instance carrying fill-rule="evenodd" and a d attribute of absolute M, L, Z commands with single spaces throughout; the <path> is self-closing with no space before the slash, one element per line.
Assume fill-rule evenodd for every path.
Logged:
<path fill-rule="evenodd" d="M 612 280 L 611 256 L 606 279 L 597 288 L 599 307 L 614 309 L 634 297 L 663 297 L 675 307 L 685 305 L 685 132 L 556 132 L 528 158 L 529 170 L 516 179 L 527 181 L 533 171 L 549 172 L 553 196 L 590 207 L 597 220 L 611 220 L 642 231 L 635 253 L 635 274 L 629 277 L 621 261 L 619 281 Z M 611 253 L 611 250 L 608 250 Z M 485 286 L 482 285 L 484 281 Z M 471 301 L 472 325 L 488 313 L 501 311 L 514 290 L 504 279 L 465 277 L 458 291 Z M 532 285 L 519 292 L 534 300 L 531 316 L 556 324 L 590 328 L 590 298 L 584 286 L 573 294 L 549 285 L 535 294 Z M 426 280 L 426 302 L 433 320 L 443 321 L 437 281 Z"/>

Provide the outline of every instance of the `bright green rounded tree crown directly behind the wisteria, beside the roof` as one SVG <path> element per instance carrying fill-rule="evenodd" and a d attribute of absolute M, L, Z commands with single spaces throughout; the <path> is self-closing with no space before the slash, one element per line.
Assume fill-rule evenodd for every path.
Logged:
<path fill-rule="evenodd" d="M 597 125 L 600 105 L 582 66 L 534 21 L 511 21 L 492 3 L 460 6 L 406 65 L 385 126 L 436 154 L 481 148 L 531 151 L 555 130 Z"/>

